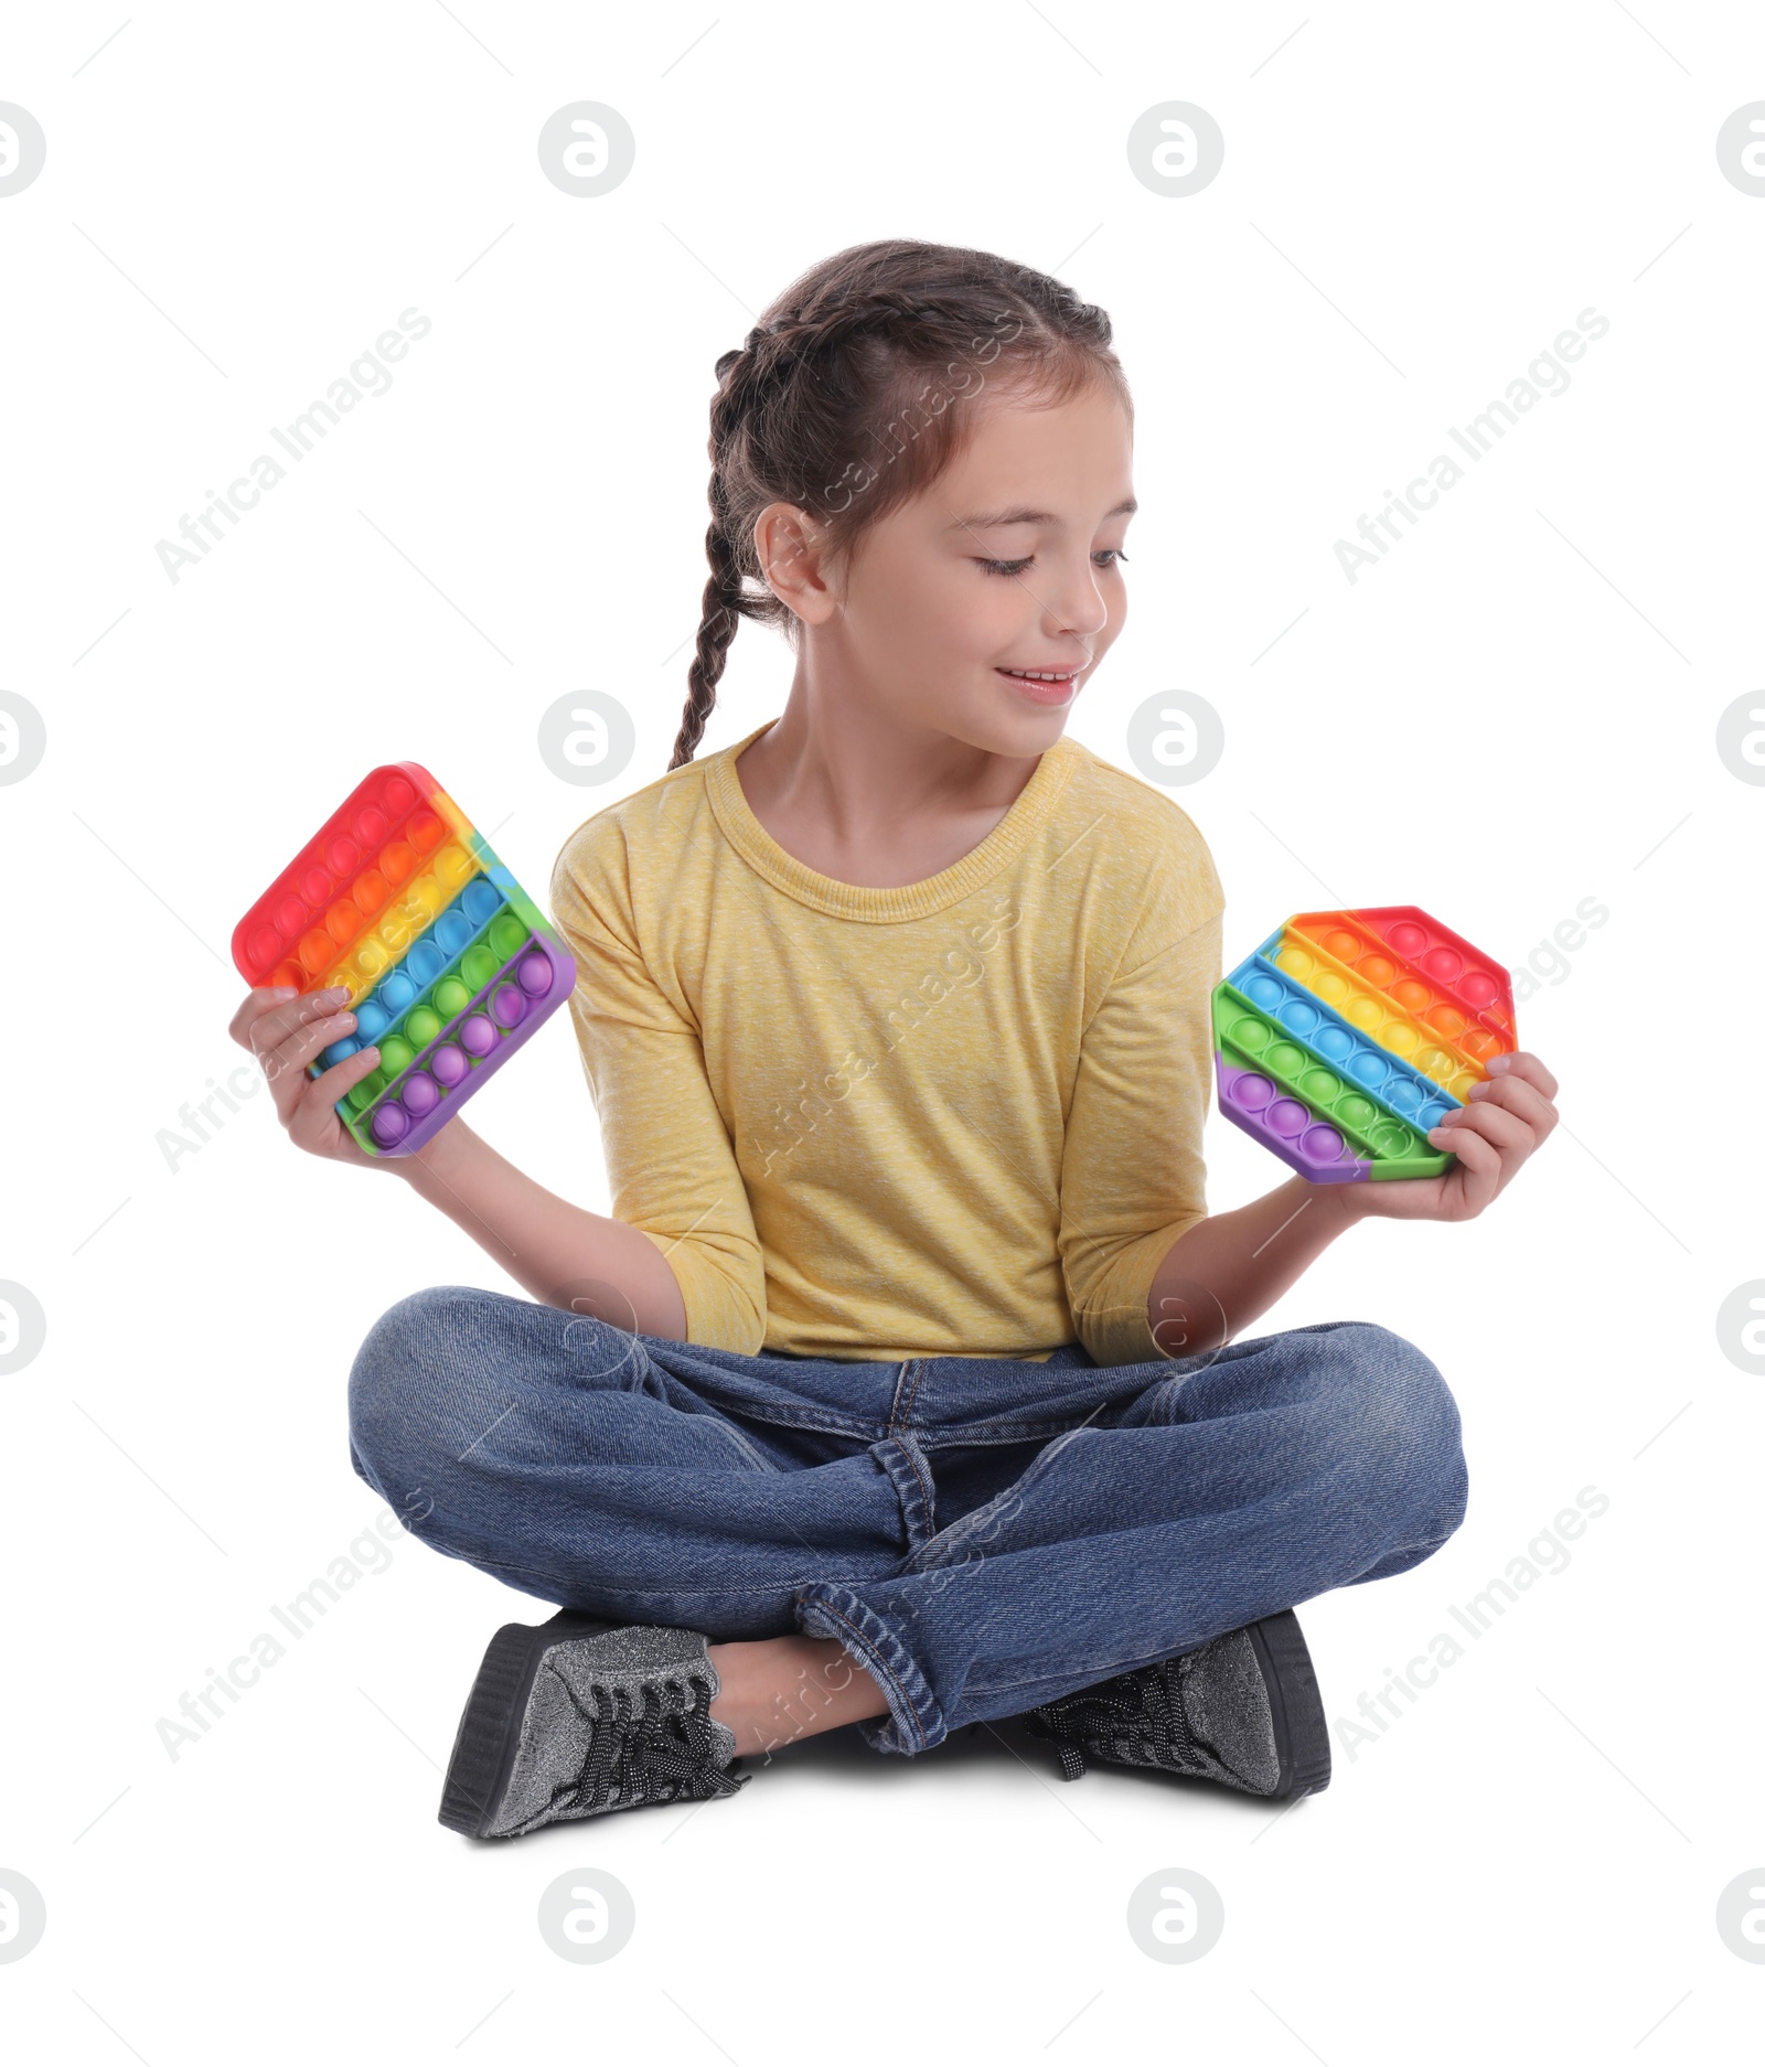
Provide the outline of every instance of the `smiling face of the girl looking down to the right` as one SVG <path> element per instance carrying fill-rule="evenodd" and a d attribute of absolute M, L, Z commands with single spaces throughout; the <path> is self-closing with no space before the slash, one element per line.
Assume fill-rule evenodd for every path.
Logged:
<path fill-rule="evenodd" d="M 951 465 L 858 535 L 810 620 L 841 699 L 996 754 L 1038 754 L 1114 645 L 1133 428 L 1108 380 L 973 409 Z"/>

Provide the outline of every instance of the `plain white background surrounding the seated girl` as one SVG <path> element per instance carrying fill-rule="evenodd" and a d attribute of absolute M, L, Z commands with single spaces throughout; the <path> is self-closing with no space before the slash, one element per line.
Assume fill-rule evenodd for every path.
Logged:
<path fill-rule="evenodd" d="M 1765 1968 L 1715 1902 L 1765 1860 L 1765 1408 L 1715 1310 L 1765 1273 L 1765 792 L 1713 740 L 1759 684 L 1765 200 L 1713 143 L 1765 97 L 1765 19 L 719 4 L 8 25 L 0 97 L 48 165 L 0 200 L 4 686 L 50 740 L 0 790 L 0 1277 L 48 1315 L 0 1379 L 0 1867 L 48 1902 L 0 1966 L 8 2055 L 1736 2057 Z M 601 198 L 539 174 L 575 99 L 637 134 Z M 1128 169 L 1164 99 L 1226 134 L 1190 198 Z M 570 829 L 661 775 L 713 360 L 806 265 L 899 234 L 1114 316 L 1143 513 L 1073 732 L 1124 763 L 1147 697 L 1217 707 L 1226 757 L 1174 794 L 1228 959 L 1288 912 L 1395 901 L 1521 967 L 1610 912 L 1521 1007 L 1562 1127 L 1513 1191 L 1354 1230 L 1257 1325 L 1376 1319 L 1465 1416 L 1463 1530 L 1306 1608 L 1331 1716 L 1577 1488 L 1610 1509 L 1279 1819 L 1064 1786 L 986 1732 L 920 1761 L 837 1736 L 703 1815 L 473 1846 L 434 1821 L 438 1763 L 537 1604 L 407 1538 L 174 1761 L 157 1718 L 376 1513 L 343 1428 L 372 1317 L 506 1288 L 393 1180 L 293 1155 L 262 1093 L 167 1166 L 159 1133 L 240 1062 L 234 920 L 374 763 L 430 765 L 541 895 Z M 155 542 L 411 306 L 434 329 L 393 389 L 169 583 Z M 1610 333 L 1573 387 L 1350 585 L 1335 539 L 1583 308 Z M 703 750 L 787 676 L 744 628 Z M 608 790 L 535 746 L 583 686 L 637 723 Z M 473 1122 L 606 1205 L 566 1021 Z M 1207 1149 L 1215 1209 L 1283 1176 L 1219 1120 Z M 601 1966 L 535 1926 L 587 1864 L 637 1904 Z M 1226 1904 L 1190 1966 L 1124 1926 L 1166 1867 Z"/>

